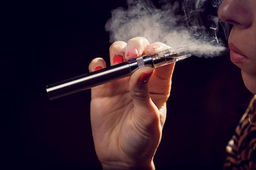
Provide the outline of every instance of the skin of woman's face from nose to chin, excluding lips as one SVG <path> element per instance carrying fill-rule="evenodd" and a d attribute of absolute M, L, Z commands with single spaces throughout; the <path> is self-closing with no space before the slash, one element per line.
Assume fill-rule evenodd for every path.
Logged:
<path fill-rule="evenodd" d="M 229 35 L 231 50 L 235 46 L 247 60 L 235 63 L 240 67 L 244 84 L 256 94 L 256 1 L 226 0 L 218 10 L 222 21 L 229 22 L 233 28 Z"/>

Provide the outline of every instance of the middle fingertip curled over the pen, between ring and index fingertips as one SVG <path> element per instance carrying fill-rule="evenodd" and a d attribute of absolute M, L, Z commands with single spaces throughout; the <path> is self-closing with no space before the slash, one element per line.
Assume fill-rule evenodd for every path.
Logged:
<path fill-rule="evenodd" d="M 126 60 L 130 60 L 132 58 L 138 58 L 139 56 L 144 55 L 145 54 L 144 50 L 148 45 L 149 45 L 149 41 L 146 38 L 138 36 L 130 39 L 127 42 L 124 58 Z"/>

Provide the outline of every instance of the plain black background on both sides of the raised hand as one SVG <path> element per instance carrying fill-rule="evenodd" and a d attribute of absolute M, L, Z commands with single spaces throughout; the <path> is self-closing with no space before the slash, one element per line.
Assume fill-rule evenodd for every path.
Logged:
<path fill-rule="evenodd" d="M 108 61 L 111 10 L 126 1 L 1 2 L 1 169 L 101 169 L 90 90 L 50 101 L 47 84 Z M 177 63 L 157 169 L 221 169 L 251 98 L 229 56 Z"/>

